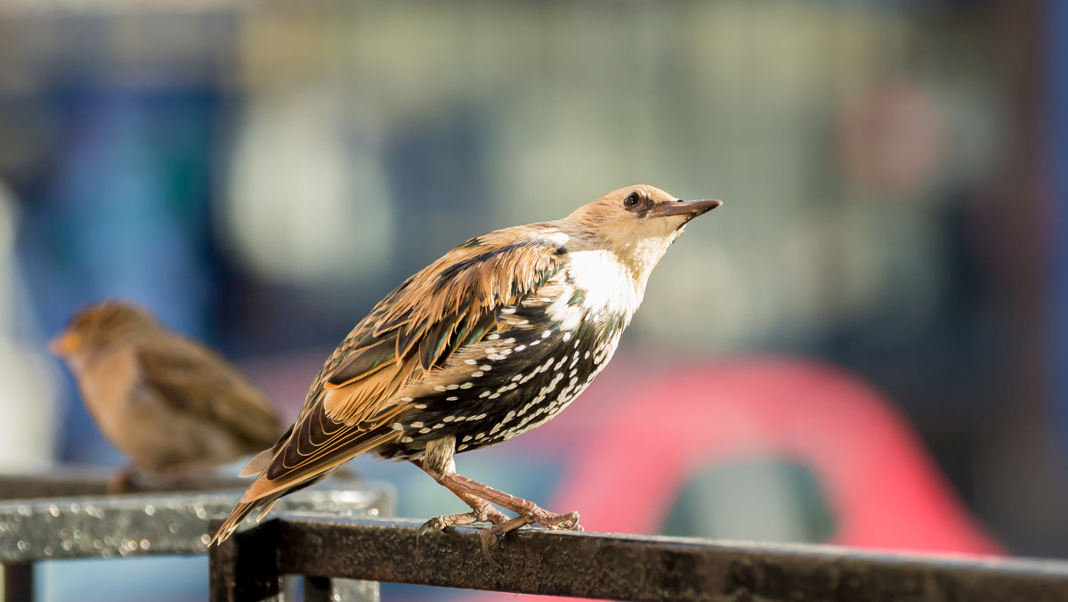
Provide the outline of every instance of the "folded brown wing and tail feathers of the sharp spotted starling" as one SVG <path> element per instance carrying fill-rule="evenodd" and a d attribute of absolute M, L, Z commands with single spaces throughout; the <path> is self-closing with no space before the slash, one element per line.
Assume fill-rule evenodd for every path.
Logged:
<path fill-rule="evenodd" d="M 471 238 L 390 293 L 327 360 L 288 437 L 216 538 L 255 506 L 397 438 L 392 425 L 412 410 L 398 393 L 491 334 L 498 309 L 544 287 L 566 252 L 521 229 L 502 230 Z"/>

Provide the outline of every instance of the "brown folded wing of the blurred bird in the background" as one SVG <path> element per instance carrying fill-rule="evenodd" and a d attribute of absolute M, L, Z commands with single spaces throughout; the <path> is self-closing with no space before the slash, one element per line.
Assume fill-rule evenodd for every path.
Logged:
<path fill-rule="evenodd" d="M 273 444 L 282 432 L 278 411 L 230 361 L 176 335 L 137 344 L 144 386 L 174 410 L 203 418 L 246 442 L 249 451 Z"/>

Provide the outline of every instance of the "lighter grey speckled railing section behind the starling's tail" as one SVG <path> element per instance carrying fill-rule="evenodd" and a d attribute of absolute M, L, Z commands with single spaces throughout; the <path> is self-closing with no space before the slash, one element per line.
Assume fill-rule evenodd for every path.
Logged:
<path fill-rule="evenodd" d="M 0 476 L 3 601 L 33 599 L 33 567 L 38 561 L 204 554 L 209 519 L 227 513 L 247 484 L 236 479 L 198 479 L 182 487 L 213 491 L 175 491 L 174 485 L 159 485 L 154 492 L 141 488 L 141 493 L 103 495 L 103 477 Z M 366 481 L 333 484 L 344 489 L 320 487 L 297 492 L 281 499 L 278 508 L 349 518 L 392 513 L 393 493 L 386 485 Z M 325 592 L 327 599 L 378 599 L 374 583 L 316 578 L 310 588 Z"/>

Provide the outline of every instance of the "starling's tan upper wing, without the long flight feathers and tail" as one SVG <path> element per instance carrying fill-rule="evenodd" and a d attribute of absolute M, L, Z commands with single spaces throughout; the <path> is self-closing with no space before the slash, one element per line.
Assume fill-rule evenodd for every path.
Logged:
<path fill-rule="evenodd" d="M 377 412 L 383 395 L 481 341 L 497 328 L 498 309 L 518 304 L 560 271 L 566 249 L 559 243 L 504 242 L 515 235 L 472 238 L 378 304 L 320 374 L 327 414 L 351 422 Z"/>

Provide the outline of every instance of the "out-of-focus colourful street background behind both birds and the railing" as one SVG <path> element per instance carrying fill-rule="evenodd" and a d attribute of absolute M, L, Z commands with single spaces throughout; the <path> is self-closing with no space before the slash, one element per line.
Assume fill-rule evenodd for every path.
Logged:
<path fill-rule="evenodd" d="M 582 400 L 461 473 L 595 530 L 1068 557 L 1066 38 L 1052 1 L 0 0 L 0 469 L 122 462 L 45 351 L 81 305 L 292 418 L 403 278 L 641 182 L 725 204 Z M 43 590 L 205 596 L 137 562 Z"/>

